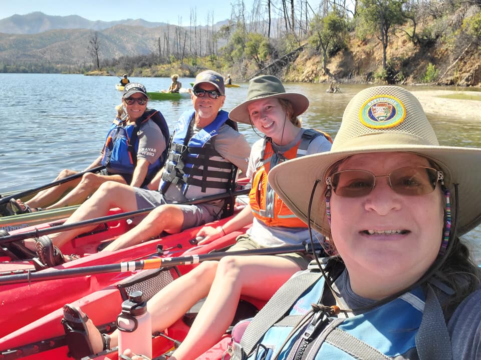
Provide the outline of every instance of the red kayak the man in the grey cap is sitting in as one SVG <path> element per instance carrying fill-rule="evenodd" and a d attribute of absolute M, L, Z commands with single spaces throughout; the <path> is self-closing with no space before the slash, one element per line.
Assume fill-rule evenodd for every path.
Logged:
<path fill-rule="evenodd" d="M 113 212 L 120 212 L 116 209 Z M 229 218 L 216 222 L 215 226 L 222 224 Z M 61 222 L 60 222 L 61 223 Z M 55 223 L 54 225 L 58 225 Z M 43 229 L 53 224 L 46 223 L 12 231 L 12 235 Z M 30 322 L 50 313 L 51 311 L 63 306 L 65 303 L 72 302 L 82 296 L 102 289 L 112 283 L 127 278 L 133 272 L 110 272 L 96 273 L 77 277 L 67 277 L 56 280 L 22 283 L 8 283 L 9 278 L 23 274 L 28 278 L 32 273 L 45 273 L 51 269 L 72 269 L 84 266 L 95 266 L 110 263 L 119 263 L 132 259 L 144 259 L 149 257 L 179 256 L 185 250 L 195 246 L 192 239 L 195 237 L 199 227 L 187 229 L 181 233 L 168 235 L 159 239 L 150 240 L 129 248 L 117 251 L 97 252 L 99 245 L 110 241 L 120 234 L 127 231 L 131 225 L 125 219 L 115 220 L 98 225 L 97 228 L 88 234 L 82 234 L 74 238 L 69 243 L 62 246 L 63 253 L 76 253 L 83 257 L 66 262 L 62 265 L 35 271 L 32 260 L 12 260 L 7 256 L 8 252 L 0 251 L 0 337 L 21 328 Z M 233 236 L 233 237 L 232 237 Z M 233 241 L 235 234 L 228 236 L 229 241 Z M 225 244 L 227 246 L 228 243 Z M 203 246 L 198 248 L 198 253 L 204 253 L 215 248 Z M 160 251 L 159 251 L 160 250 Z M 88 256 L 86 256 L 88 255 Z M 35 304 L 35 308 L 32 308 Z M 29 309 L 26 311 L 26 309 Z M 1 357 L 0 357 L 1 358 Z"/>

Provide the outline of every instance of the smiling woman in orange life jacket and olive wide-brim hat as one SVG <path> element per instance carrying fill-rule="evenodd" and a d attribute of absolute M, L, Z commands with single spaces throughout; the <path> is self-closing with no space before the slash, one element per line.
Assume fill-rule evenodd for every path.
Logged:
<path fill-rule="evenodd" d="M 298 244 L 309 238 L 299 220 L 279 197 L 269 190 L 267 176 L 277 164 L 304 154 L 328 151 L 330 137 L 301 127 L 298 118 L 309 106 L 307 97 L 286 92 L 281 80 L 272 75 L 251 79 L 247 100 L 236 106 L 229 117 L 251 124 L 263 133 L 252 148 L 247 175 L 252 178 L 250 203 L 223 226 L 202 228 L 200 243 L 210 242 L 226 233 L 253 223 L 250 231 L 236 239 L 231 250 Z M 307 169 L 306 169 L 307 170 Z M 155 221 L 161 220 L 157 217 Z M 254 222 L 253 222 L 254 221 Z M 152 225 L 155 222 L 152 222 Z M 323 241 L 320 234 L 318 241 Z M 306 269 L 311 258 L 299 253 L 277 256 L 225 256 L 220 261 L 202 262 L 172 281 L 148 301 L 152 331 L 162 331 L 180 318 L 199 299 L 207 296 L 187 337 L 170 358 L 195 359 L 218 341 L 233 320 L 241 294 L 267 300 L 294 272 Z M 67 317 L 72 306 L 66 307 Z M 100 351 L 118 343 L 118 331 L 100 335 L 91 320 L 76 309 L 78 321 L 88 336 L 77 347 Z M 78 328 L 78 327 L 77 327 Z M 90 339 L 90 341 L 89 341 Z"/>

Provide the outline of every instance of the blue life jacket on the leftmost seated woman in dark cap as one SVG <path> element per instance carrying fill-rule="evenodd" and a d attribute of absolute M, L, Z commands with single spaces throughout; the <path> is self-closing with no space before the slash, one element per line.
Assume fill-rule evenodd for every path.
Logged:
<path fill-rule="evenodd" d="M 169 139 L 169 128 L 165 118 L 158 110 L 146 109 L 143 115 L 134 124 L 125 125 L 124 120 L 115 119 L 107 133 L 102 157 L 102 165 L 107 170 L 113 169 L 115 172 L 132 174 L 137 164 L 137 151 L 139 147 L 138 131 L 140 125 L 148 120 L 154 121 L 162 131 L 165 144 Z M 167 155 L 167 146 L 154 162 L 149 164 L 147 177 L 152 177 L 162 168 Z"/>

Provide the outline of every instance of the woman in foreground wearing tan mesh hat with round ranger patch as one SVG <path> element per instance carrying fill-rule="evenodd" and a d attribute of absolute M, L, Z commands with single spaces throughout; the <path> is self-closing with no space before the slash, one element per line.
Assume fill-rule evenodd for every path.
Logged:
<path fill-rule="evenodd" d="M 234 358 L 480 358 L 479 268 L 459 240 L 481 222 L 479 164 L 480 148 L 438 144 L 409 91 L 356 94 L 330 152 L 269 173 L 334 255 L 276 292 Z"/>

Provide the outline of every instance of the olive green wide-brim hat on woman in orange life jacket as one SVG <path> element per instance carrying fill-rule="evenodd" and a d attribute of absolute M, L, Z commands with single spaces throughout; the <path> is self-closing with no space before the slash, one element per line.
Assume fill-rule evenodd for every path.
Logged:
<path fill-rule="evenodd" d="M 250 103 L 265 98 L 282 98 L 289 100 L 294 111 L 294 116 L 299 116 L 309 107 L 309 100 L 306 96 L 297 92 L 286 92 L 281 80 L 274 75 L 261 75 L 249 81 L 247 100 L 235 106 L 229 117 L 237 122 L 251 123 L 249 110 Z"/>

